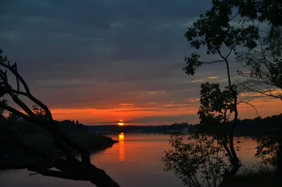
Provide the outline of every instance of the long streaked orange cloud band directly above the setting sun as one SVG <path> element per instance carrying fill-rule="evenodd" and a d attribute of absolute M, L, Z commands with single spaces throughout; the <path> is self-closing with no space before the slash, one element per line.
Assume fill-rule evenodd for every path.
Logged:
<path fill-rule="evenodd" d="M 173 108 L 170 109 L 169 107 Z M 197 114 L 197 107 L 189 107 L 188 104 L 167 104 L 164 107 L 151 108 L 51 109 L 51 112 L 56 120 L 79 120 L 81 123 L 94 124 L 97 121 L 118 121 L 119 119 L 130 121 L 145 116 L 178 116 Z"/>

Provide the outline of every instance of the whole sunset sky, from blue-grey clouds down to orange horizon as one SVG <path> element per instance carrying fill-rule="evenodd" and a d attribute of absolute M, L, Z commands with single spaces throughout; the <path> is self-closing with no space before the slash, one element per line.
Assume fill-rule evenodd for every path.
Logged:
<path fill-rule="evenodd" d="M 58 120 L 87 125 L 198 122 L 200 84 L 226 85 L 224 64 L 185 75 L 183 35 L 210 0 L 1 0 L 0 48 Z M 203 56 L 218 59 L 217 56 Z M 235 64 L 231 55 L 233 73 Z M 244 95 L 242 95 L 243 97 Z M 259 97 L 259 115 L 282 113 Z M 240 106 L 240 119 L 256 116 Z"/>

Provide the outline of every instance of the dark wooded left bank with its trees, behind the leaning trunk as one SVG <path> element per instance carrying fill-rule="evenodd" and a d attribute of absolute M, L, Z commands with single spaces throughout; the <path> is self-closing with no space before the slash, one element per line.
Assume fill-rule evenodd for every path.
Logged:
<path fill-rule="evenodd" d="M 61 132 L 90 153 L 106 150 L 112 147 L 114 143 L 118 143 L 118 140 L 113 140 L 105 135 L 89 132 L 87 126 L 78 123 L 78 121 L 77 123 L 68 120 L 56 122 Z M 5 133 L 9 137 L 6 137 Z M 30 159 L 30 155 L 13 144 L 11 138 L 49 155 L 54 155 L 54 157 L 63 157 L 63 152 L 42 128 L 38 128 L 27 121 L 14 121 L 12 116 L 8 118 L 8 126 L 1 126 L 0 128 L 0 169 L 23 169 L 25 164 L 34 162 L 33 159 Z M 73 155 L 79 155 L 78 151 L 70 150 Z"/>

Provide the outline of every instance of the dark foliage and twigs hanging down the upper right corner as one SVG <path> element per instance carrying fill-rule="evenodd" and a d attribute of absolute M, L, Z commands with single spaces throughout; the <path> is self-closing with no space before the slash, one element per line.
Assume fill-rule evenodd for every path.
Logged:
<path fill-rule="evenodd" d="M 240 82 L 247 90 L 282 99 L 282 1 L 238 0 L 230 4 L 238 8 L 240 16 L 268 24 L 264 28 L 256 26 L 257 48 L 245 46 L 245 51 L 236 54 L 237 61 L 248 69 L 238 71 L 243 76 Z"/>

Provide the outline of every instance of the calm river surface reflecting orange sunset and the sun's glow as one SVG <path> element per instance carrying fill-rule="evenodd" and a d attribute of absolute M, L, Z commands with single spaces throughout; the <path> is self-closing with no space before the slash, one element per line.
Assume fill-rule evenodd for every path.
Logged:
<path fill-rule="evenodd" d="M 91 156 L 92 163 L 106 171 L 123 187 L 171 187 L 183 186 L 172 172 L 164 172 L 161 157 L 168 150 L 169 135 L 125 134 L 108 135 L 119 143 Z M 238 156 L 243 162 L 257 162 L 254 158 L 256 144 L 250 138 L 237 138 L 240 144 Z M 56 179 L 46 176 L 28 176 L 25 169 L 0 171 L 0 186 L 94 186 L 90 182 Z"/>

